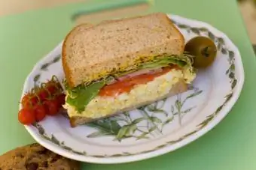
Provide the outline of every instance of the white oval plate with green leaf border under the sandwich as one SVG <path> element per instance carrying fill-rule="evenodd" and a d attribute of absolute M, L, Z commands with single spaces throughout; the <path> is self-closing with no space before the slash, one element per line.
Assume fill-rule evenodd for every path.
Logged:
<path fill-rule="evenodd" d="M 186 40 L 200 34 L 211 37 L 218 46 L 215 63 L 197 74 L 189 91 L 91 126 L 72 128 L 58 115 L 35 127 L 26 126 L 26 130 L 45 148 L 73 160 L 126 163 L 174 151 L 215 127 L 242 90 L 244 70 L 239 50 L 225 34 L 205 22 L 175 15 L 170 18 Z M 35 65 L 23 94 L 53 75 L 63 78 L 61 50 L 62 43 Z M 108 136 L 102 136 L 105 133 Z"/>

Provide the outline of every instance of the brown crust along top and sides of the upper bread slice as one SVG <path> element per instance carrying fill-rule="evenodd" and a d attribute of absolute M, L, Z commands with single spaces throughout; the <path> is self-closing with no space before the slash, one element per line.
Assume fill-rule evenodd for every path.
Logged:
<path fill-rule="evenodd" d="M 169 17 L 165 13 L 153 13 L 153 14 L 151 13 L 151 15 L 159 15 L 160 17 L 162 17 L 161 19 L 163 19 L 163 17 L 164 17 L 164 19 L 166 19 L 166 21 L 168 21 L 168 24 L 170 25 L 170 27 L 175 29 L 176 33 L 178 33 L 178 40 L 181 41 L 180 49 L 177 49 L 177 51 L 181 54 L 184 51 L 184 37 L 181 34 L 181 32 L 178 30 L 178 28 L 175 27 L 175 25 L 172 23 L 172 21 L 169 19 Z M 126 18 L 126 20 L 130 20 L 130 19 L 134 19 L 134 18 L 142 18 L 142 17 L 145 17 L 145 16 L 135 16 L 135 17 L 131 17 L 128 19 Z M 97 25 L 106 25 L 106 24 L 109 24 L 110 22 L 120 22 L 122 20 L 123 19 L 108 20 L 108 21 L 100 22 Z M 71 87 L 71 88 L 74 88 L 75 86 L 81 84 L 81 81 L 76 81 L 74 79 L 74 77 L 75 77 L 74 73 L 72 73 L 71 66 L 67 62 L 67 41 L 69 41 L 72 34 L 75 34 L 75 32 L 79 30 L 79 28 L 84 28 L 85 30 L 87 30 L 91 27 L 93 27 L 93 25 L 81 24 L 81 25 L 76 26 L 75 28 L 72 29 L 72 31 L 69 32 L 69 34 L 67 34 L 67 36 L 63 42 L 63 45 L 62 45 L 62 67 L 63 67 L 64 73 L 66 75 L 66 81 L 67 81 L 69 87 Z M 148 51 L 148 49 L 145 49 L 145 51 Z M 145 52 L 145 53 L 148 53 L 148 52 Z M 126 56 L 127 55 L 124 55 L 123 58 L 126 58 Z M 113 60 L 113 59 L 111 59 L 111 60 Z M 102 62 L 102 65 L 108 65 L 108 61 L 106 63 Z M 107 75 L 105 75 L 105 76 L 107 76 Z M 85 77 L 84 77 L 84 79 L 85 79 Z"/>

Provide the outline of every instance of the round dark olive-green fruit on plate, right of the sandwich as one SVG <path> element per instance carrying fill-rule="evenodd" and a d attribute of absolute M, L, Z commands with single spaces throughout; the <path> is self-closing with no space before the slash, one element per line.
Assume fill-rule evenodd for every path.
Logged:
<path fill-rule="evenodd" d="M 185 52 L 194 55 L 193 66 L 196 68 L 209 67 L 215 61 L 217 47 L 208 37 L 198 36 L 190 39 L 184 48 Z"/>

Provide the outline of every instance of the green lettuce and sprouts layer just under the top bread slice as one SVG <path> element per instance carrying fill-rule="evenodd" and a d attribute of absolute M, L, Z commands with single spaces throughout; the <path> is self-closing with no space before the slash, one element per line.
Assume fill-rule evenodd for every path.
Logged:
<path fill-rule="evenodd" d="M 90 85 L 79 85 L 75 88 L 69 88 L 68 85 L 65 85 L 66 91 L 69 94 L 66 103 L 74 106 L 78 112 L 83 112 L 87 104 L 90 103 L 90 101 L 99 94 L 99 90 L 106 84 L 108 84 L 109 81 L 114 79 L 113 76 L 120 77 L 125 74 L 135 72 L 137 70 L 166 67 L 169 64 L 177 64 L 179 67 L 189 67 L 191 68 L 191 71 L 193 71 L 191 59 L 192 58 L 190 58 L 190 56 L 186 54 L 179 57 L 175 55 L 155 57 L 154 60 L 140 64 L 133 70 L 115 73 L 113 75 L 105 77 L 104 79 L 97 80 L 97 82 L 92 82 L 90 83 Z"/>

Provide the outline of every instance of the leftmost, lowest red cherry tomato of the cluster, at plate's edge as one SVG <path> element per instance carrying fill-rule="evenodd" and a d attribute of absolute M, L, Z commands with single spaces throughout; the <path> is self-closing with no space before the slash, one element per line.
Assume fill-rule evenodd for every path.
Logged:
<path fill-rule="evenodd" d="M 35 122 L 35 112 L 32 109 L 23 108 L 18 113 L 18 119 L 21 124 L 32 124 Z"/>

